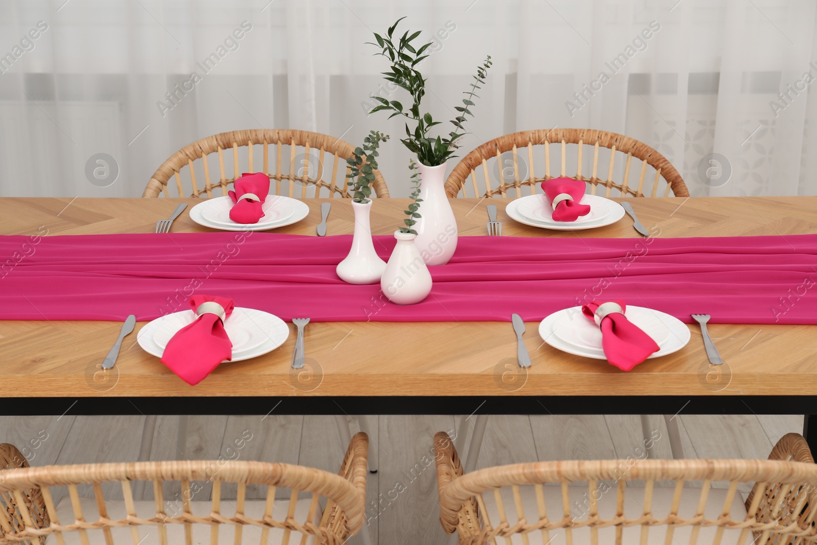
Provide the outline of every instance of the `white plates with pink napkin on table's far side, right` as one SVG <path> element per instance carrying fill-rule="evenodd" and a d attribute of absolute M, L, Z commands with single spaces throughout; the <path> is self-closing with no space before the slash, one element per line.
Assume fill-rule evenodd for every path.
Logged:
<path fill-rule="evenodd" d="M 613 200 L 586 194 L 586 183 L 552 178 L 539 184 L 544 193 L 513 199 L 505 212 L 526 226 L 549 230 L 586 230 L 614 224 L 624 208 Z"/>

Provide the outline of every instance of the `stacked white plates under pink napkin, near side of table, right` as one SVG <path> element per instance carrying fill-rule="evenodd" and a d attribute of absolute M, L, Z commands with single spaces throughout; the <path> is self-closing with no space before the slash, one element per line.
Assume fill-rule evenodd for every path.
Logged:
<path fill-rule="evenodd" d="M 655 352 L 653 355 L 650 355 L 648 360 L 677 352 L 686 346 L 688 342 L 690 342 L 690 328 L 686 327 L 686 324 L 681 322 L 681 320 L 677 319 L 675 316 L 668 315 L 660 310 L 647 309 L 642 306 L 627 306 L 627 312 L 629 312 L 631 309 L 647 311 L 653 315 L 653 319 L 659 320 L 659 322 L 661 322 L 661 324 L 667 328 L 668 335 L 663 342 L 658 342 L 656 340 L 660 350 Z M 602 350 L 600 342 L 597 348 L 587 348 L 565 342 L 561 337 L 556 335 L 554 330 L 559 326 L 560 322 L 562 322 L 562 320 L 569 322 L 571 319 L 573 319 L 573 323 L 577 328 L 584 325 L 581 322 L 578 322 L 578 320 L 584 320 L 584 322 L 587 322 L 587 325 L 592 327 L 590 320 L 582 315 L 582 307 L 573 306 L 554 312 L 542 320 L 542 323 L 539 324 L 539 335 L 542 337 L 542 340 L 547 342 L 547 344 L 550 346 L 553 346 L 560 351 L 567 352 L 568 354 L 581 355 L 594 360 L 606 360 L 607 356 L 605 356 L 605 352 Z M 639 325 L 639 327 L 644 325 L 643 323 L 637 324 L 636 321 L 633 321 L 633 323 Z"/>

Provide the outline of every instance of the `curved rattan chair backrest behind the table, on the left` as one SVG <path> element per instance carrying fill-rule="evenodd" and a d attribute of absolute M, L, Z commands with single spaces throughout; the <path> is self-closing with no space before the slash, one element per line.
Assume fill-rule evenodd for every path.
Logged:
<path fill-rule="evenodd" d="M 258 164 L 258 147 L 261 147 L 263 158 L 261 165 Z M 355 146 L 350 143 L 318 132 L 291 129 L 222 132 L 185 145 L 172 154 L 150 176 L 142 197 L 158 197 L 160 194 L 165 197 L 201 197 L 207 194 L 209 198 L 215 189 L 221 189 L 221 194 L 225 195 L 227 185 L 243 172 L 263 172 L 270 176 L 270 192 L 275 190 L 275 194 L 301 199 L 333 198 L 336 194 L 351 198 L 346 185 L 346 174 L 350 172 L 346 159 L 350 159 L 354 151 Z M 377 197 L 388 197 L 386 181 L 377 170 L 374 178 Z M 169 190 L 168 185 L 175 186 L 176 190 Z M 301 189 L 296 190 L 296 185 Z M 326 190 L 321 191 L 324 188 Z"/>

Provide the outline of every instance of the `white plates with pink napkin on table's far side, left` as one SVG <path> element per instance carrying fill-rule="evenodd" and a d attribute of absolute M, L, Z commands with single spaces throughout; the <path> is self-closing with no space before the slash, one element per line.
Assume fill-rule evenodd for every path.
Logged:
<path fill-rule="evenodd" d="M 292 225 L 309 214 L 299 199 L 270 193 L 270 178 L 263 172 L 244 173 L 234 190 L 206 199 L 190 209 L 190 219 L 200 226 L 225 231 L 265 231 Z"/>

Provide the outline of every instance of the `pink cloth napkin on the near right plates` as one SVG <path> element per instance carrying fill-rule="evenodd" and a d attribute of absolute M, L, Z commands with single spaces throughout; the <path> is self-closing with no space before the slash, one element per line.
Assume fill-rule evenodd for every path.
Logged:
<path fill-rule="evenodd" d="M 601 347 L 604 349 L 607 361 L 610 364 L 623 371 L 629 371 L 650 357 L 651 354 L 659 351 L 660 346 L 641 328 L 628 320 L 627 316 L 623 315 L 623 312 L 627 310 L 627 306 L 622 300 L 611 302 L 620 306 L 622 312 L 613 311 L 601 318 L 599 324 L 601 328 Z M 593 324 L 596 324 L 596 309 L 601 305 L 605 305 L 605 302 L 593 301 L 582 306 L 583 314 Z"/>

